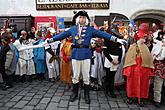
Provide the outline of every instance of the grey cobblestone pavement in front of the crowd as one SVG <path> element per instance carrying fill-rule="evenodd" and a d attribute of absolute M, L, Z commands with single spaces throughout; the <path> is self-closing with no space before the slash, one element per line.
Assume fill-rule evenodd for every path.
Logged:
<path fill-rule="evenodd" d="M 61 81 L 17 83 L 7 91 L 0 90 L 0 110 L 165 110 L 165 106 L 158 109 L 150 101 L 145 107 L 129 105 L 124 90 L 116 90 L 117 98 L 90 91 L 91 104 L 85 104 L 83 89 L 75 102 L 69 102 L 71 93 Z"/>

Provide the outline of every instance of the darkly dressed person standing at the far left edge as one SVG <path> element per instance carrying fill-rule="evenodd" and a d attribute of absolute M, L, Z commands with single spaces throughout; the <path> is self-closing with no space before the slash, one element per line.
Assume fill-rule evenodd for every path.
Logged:
<path fill-rule="evenodd" d="M 2 35 L 2 47 L 0 49 L 0 73 L 4 81 L 3 90 L 13 87 L 14 72 L 16 70 L 16 51 L 10 39 L 12 35 Z"/>

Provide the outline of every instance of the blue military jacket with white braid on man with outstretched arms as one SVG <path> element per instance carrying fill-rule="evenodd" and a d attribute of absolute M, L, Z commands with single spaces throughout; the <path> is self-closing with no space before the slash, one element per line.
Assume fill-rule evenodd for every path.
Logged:
<path fill-rule="evenodd" d="M 75 25 L 71 27 L 69 30 L 64 31 L 56 36 L 53 37 L 54 41 L 65 39 L 69 36 L 72 36 L 73 45 L 90 45 L 91 38 L 99 37 L 105 38 L 108 40 L 115 40 L 116 37 L 112 37 L 112 35 L 96 30 L 93 27 L 87 26 L 82 27 L 81 35 L 78 35 L 78 26 Z M 92 57 L 92 50 L 90 48 L 72 48 L 71 59 L 76 60 L 84 60 L 84 59 L 91 59 Z"/>

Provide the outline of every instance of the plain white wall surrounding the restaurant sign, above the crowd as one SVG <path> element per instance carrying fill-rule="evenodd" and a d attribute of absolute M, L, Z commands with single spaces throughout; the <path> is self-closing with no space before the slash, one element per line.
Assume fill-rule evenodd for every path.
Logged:
<path fill-rule="evenodd" d="M 165 0 L 110 0 L 110 9 L 87 10 L 90 16 L 121 13 L 128 18 L 145 9 L 165 10 Z M 72 17 L 74 10 L 37 11 L 35 0 L 0 0 L 0 15 L 31 14 L 32 16 Z"/>

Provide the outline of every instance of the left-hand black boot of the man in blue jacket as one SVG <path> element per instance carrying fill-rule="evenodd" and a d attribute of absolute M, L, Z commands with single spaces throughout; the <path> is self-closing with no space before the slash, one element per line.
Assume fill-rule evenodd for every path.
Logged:
<path fill-rule="evenodd" d="M 71 102 L 74 102 L 78 96 L 79 83 L 73 84 L 73 93 L 70 98 Z"/>

